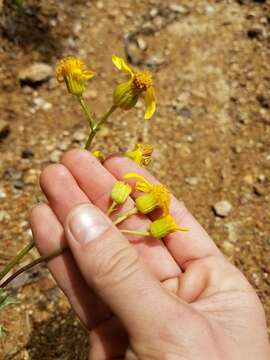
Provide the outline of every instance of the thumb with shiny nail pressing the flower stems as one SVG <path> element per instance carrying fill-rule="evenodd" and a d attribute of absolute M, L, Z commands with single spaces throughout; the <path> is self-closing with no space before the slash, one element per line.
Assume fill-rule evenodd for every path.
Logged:
<path fill-rule="evenodd" d="M 156 318 L 160 326 L 156 314 L 169 307 L 169 296 L 107 216 L 91 204 L 79 205 L 69 213 L 65 232 L 86 282 L 127 329 L 140 329 L 147 319 L 153 327 Z"/>

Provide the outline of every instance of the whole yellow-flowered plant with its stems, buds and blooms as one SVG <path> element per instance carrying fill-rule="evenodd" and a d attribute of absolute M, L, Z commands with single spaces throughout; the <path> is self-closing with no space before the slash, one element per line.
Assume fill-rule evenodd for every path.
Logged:
<path fill-rule="evenodd" d="M 126 82 L 117 85 L 112 92 L 111 106 L 103 115 L 97 116 L 91 106 L 84 98 L 84 92 L 88 82 L 96 75 L 93 70 L 89 70 L 86 64 L 77 57 L 67 57 L 62 59 L 56 66 L 56 78 L 60 84 L 65 84 L 67 91 L 78 101 L 89 124 L 89 136 L 85 143 L 85 149 L 90 150 L 92 141 L 98 134 L 102 126 L 107 122 L 109 117 L 117 110 L 128 110 L 133 108 L 140 97 L 145 100 L 145 119 L 150 119 L 156 110 L 156 96 L 154 90 L 153 76 L 148 70 L 132 69 L 121 57 L 112 56 L 112 62 L 116 68 L 129 76 Z M 92 82 L 90 82 L 92 84 Z M 91 150 L 92 155 L 100 162 L 105 160 L 105 156 L 100 150 Z M 152 159 L 153 147 L 150 144 L 138 143 L 133 148 L 127 150 L 124 156 L 128 157 L 141 166 L 148 166 Z M 133 179 L 133 180 L 132 180 Z M 134 180 L 135 184 L 134 184 Z M 133 187 L 128 182 L 133 181 Z M 132 194 L 134 207 L 126 212 L 119 213 L 121 206 L 126 203 Z M 154 237 L 162 239 L 175 231 L 187 231 L 187 229 L 176 224 L 174 218 L 170 215 L 170 192 L 162 184 L 152 184 L 148 179 L 137 173 L 127 173 L 123 181 L 117 181 L 112 187 L 111 202 L 108 206 L 107 215 L 113 217 L 115 225 L 120 224 L 130 216 L 135 214 L 150 214 L 154 210 L 159 209 L 160 217 L 153 221 L 145 231 L 137 231 L 136 229 L 124 229 L 121 231 L 127 234 L 135 234 L 138 236 Z M 131 203 L 131 202 L 129 202 Z M 16 276 L 31 267 L 41 263 L 48 262 L 52 258 L 68 251 L 67 248 L 58 249 L 57 251 L 41 256 L 33 262 L 19 268 L 10 276 L 8 274 L 13 271 L 25 255 L 34 247 L 34 242 L 30 242 L 24 247 L 0 272 L 0 309 L 3 306 L 12 303 L 12 298 L 4 291 L 4 288 Z M 8 277 L 7 277 L 8 276 Z M 1 282 L 2 281 L 2 282 Z M 2 305 L 1 305 L 2 304 Z M 0 326 L 0 335 L 5 331 Z"/>

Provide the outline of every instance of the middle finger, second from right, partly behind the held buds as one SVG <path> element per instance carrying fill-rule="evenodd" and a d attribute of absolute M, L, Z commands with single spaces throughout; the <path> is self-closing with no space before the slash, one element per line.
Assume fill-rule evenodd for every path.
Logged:
<path fill-rule="evenodd" d="M 62 164 L 69 169 L 82 191 L 93 204 L 102 210 L 110 205 L 111 189 L 116 179 L 88 151 L 72 150 L 64 155 Z M 133 207 L 133 201 L 128 200 L 126 206 Z M 122 225 L 125 228 L 145 230 L 150 220 L 146 216 L 133 216 Z M 180 273 L 179 266 L 158 239 L 142 239 L 129 237 L 147 266 L 160 279 L 164 280 Z"/>

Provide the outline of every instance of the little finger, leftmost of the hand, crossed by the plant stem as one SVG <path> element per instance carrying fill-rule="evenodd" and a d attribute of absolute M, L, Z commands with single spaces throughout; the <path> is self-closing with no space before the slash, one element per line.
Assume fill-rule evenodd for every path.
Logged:
<path fill-rule="evenodd" d="M 41 204 L 32 210 L 30 224 L 36 245 L 42 255 L 63 247 L 63 227 L 48 205 Z M 109 309 L 93 294 L 82 278 L 70 251 L 50 260 L 48 267 L 88 329 L 95 327 L 100 319 L 111 316 Z"/>

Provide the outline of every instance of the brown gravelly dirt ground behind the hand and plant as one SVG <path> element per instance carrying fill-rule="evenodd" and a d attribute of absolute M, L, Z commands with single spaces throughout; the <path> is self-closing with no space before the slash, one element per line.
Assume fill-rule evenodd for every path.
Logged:
<path fill-rule="evenodd" d="M 154 145 L 152 171 L 255 286 L 270 325 L 269 14 L 268 0 L 0 0 L 0 267 L 31 239 L 41 168 L 87 133 L 64 87 L 22 70 L 80 56 L 98 73 L 86 96 L 104 111 L 123 80 L 116 53 L 154 72 L 157 113 L 146 124 L 141 105 L 118 112 L 96 147 Z M 225 217 L 213 211 L 222 200 Z M 20 304 L 1 313 L 0 359 L 86 359 L 86 333 L 44 266 L 12 289 Z"/>

